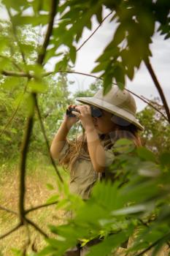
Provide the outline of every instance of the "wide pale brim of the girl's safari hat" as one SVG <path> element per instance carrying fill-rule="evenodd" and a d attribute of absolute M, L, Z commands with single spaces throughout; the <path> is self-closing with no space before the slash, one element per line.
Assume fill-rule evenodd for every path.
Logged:
<path fill-rule="evenodd" d="M 95 97 L 78 97 L 76 98 L 76 100 L 78 102 L 88 103 L 95 107 L 101 108 L 103 110 L 108 111 L 109 113 L 115 114 L 116 116 L 120 116 L 121 118 L 124 118 L 126 121 L 129 121 L 130 123 L 134 124 L 140 130 L 144 130 L 144 127 L 142 127 L 142 125 L 139 123 L 139 121 L 137 121 L 134 115 L 132 115 L 126 110 L 123 110 L 122 108 L 119 108 L 115 105 L 111 105 L 108 102 L 105 102 L 104 100 L 97 99 Z"/>

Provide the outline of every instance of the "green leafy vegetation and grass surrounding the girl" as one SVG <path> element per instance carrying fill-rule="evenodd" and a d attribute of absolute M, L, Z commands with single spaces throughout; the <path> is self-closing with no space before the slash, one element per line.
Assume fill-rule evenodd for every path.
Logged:
<path fill-rule="evenodd" d="M 169 39 L 170 2 L 1 4 L 9 18 L 0 20 L 0 253 L 62 256 L 77 241 L 84 246 L 100 237 L 101 243 L 91 246 L 88 255 L 120 255 L 120 246 L 130 237 L 124 249 L 128 255 L 144 255 L 150 249 L 151 255 L 159 255 L 170 241 L 170 113 L 150 64 L 150 42 L 155 27 Z M 100 82 L 72 95 L 73 82 L 66 74 L 76 72 L 75 45 L 83 29 L 91 29 L 93 16 L 98 24 L 103 22 L 103 8 L 111 12 L 117 29 L 93 69 L 101 72 Z M 58 58 L 54 71 L 47 72 L 53 57 Z M 101 86 L 107 92 L 115 82 L 123 89 L 125 78 L 132 80 L 142 61 L 161 97 L 161 103 L 154 99 L 153 105 L 164 118 L 149 105 L 138 114 L 145 127 L 144 147 L 134 149 L 128 140 L 118 141 L 115 162 L 109 167 L 115 182 L 98 183 L 85 203 L 70 194 L 68 174 L 58 166 L 54 170 L 45 139 L 50 143 L 74 97 L 91 95 Z M 53 205 L 34 208 L 44 203 Z M 74 217 L 66 220 L 65 211 Z"/>

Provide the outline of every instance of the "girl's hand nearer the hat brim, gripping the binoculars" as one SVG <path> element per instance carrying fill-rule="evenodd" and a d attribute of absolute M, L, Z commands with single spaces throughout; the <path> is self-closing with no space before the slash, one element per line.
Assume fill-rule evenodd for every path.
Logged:
<path fill-rule="evenodd" d="M 89 105 L 77 105 L 75 109 L 79 110 L 80 113 L 76 111 L 72 111 L 72 113 L 80 118 L 80 121 L 82 123 L 82 127 L 85 129 L 93 128 L 93 117 L 91 116 L 91 109 Z"/>

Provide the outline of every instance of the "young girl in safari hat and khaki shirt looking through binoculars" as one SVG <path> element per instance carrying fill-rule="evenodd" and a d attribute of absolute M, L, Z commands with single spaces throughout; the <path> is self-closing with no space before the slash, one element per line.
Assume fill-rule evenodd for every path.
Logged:
<path fill-rule="evenodd" d="M 83 105 L 69 105 L 74 116 L 65 116 L 53 139 L 50 152 L 70 171 L 70 191 L 87 200 L 93 184 L 104 176 L 107 166 L 114 161 L 112 146 L 120 138 L 128 138 L 140 146 L 138 132 L 143 127 L 136 120 L 136 103 L 131 94 L 117 86 L 106 95 L 99 90 L 93 97 L 80 97 Z M 77 112 L 78 111 L 78 112 Z M 69 129 L 77 121 L 83 127 L 82 136 L 67 139 Z"/>

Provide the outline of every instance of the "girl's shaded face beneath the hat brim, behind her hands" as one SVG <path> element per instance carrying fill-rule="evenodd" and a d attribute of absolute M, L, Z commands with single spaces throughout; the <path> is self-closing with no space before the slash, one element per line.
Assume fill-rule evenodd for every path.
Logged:
<path fill-rule="evenodd" d="M 101 117 L 93 117 L 93 124 L 96 127 L 96 130 L 99 134 L 108 133 L 115 130 L 115 124 L 112 122 L 112 113 L 107 112 L 106 110 L 101 110 Z"/>

